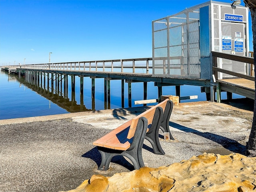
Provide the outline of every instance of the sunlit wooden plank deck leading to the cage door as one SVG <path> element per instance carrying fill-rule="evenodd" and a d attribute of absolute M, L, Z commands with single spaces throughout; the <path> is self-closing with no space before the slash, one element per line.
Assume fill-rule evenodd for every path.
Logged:
<path fill-rule="evenodd" d="M 244 78 L 229 78 L 217 80 L 221 90 L 236 93 L 251 99 L 255 97 L 255 82 Z"/>

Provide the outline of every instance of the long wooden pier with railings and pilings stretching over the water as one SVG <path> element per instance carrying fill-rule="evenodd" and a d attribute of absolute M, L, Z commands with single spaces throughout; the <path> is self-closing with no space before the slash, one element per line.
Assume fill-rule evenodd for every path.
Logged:
<path fill-rule="evenodd" d="M 104 100 L 105 109 L 110 108 L 110 81 L 122 80 L 122 107 L 124 107 L 124 82 L 128 83 L 128 106 L 132 106 L 131 84 L 133 82 L 143 82 L 144 100 L 147 100 L 147 83 L 154 82 L 158 87 L 158 100 L 161 99 L 163 86 L 176 86 L 176 96 L 180 97 L 181 85 L 194 85 L 205 87 L 206 98 L 208 100 L 217 100 L 221 102 L 220 92 L 227 92 L 227 98 L 232 98 L 232 93 L 236 93 L 248 98 L 254 99 L 255 83 L 254 76 L 240 74 L 222 68 L 218 68 L 217 58 L 225 58 L 253 64 L 253 58 L 236 56 L 232 54 L 224 54 L 220 52 L 212 52 L 212 71 L 214 78 L 198 79 L 198 78 L 182 78 L 182 77 L 163 77 L 152 74 L 152 58 L 137 58 L 125 60 L 100 60 L 100 61 L 83 61 L 83 62 L 66 62 L 51 64 L 27 64 L 22 66 L 3 66 L 1 70 L 9 73 L 17 73 L 24 76 L 26 82 L 43 87 L 47 90 L 64 89 L 62 99 L 67 99 L 68 76 L 71 77 L 72 92 L 75 87 L 75 76 L 80 77 L 80 93 L 83 92 L 83 78 L 90 77 L 92 79 L 92 99 L 95 98 L 95 79 L 104 78 Z M 234 78 L 218 78 L 219 73 L 230 74 Z M 62 85 L 63 84 L 63 85 Z M 210 90 L 210 91 L 209 91 Z M 45 91 L 43 91 L 45 93 Z M 217 92 L 217 98 L 215 98 Z M 57 92 L 56 92 L 57 93 Z M 50 98 L 48 95 L 46 98 Z M 83 96 L 80 95 L 81 102 Z M 60 99 L 60 100 L 62 100 Z M 58 101 L 56 101 L 58 103 Z M 74 95 L 72 93 L 71 102 L 74 105 Z M 93 100 L 92 100 L 93 105 Z M 144 104 L 145 105 L 145 104 Z M 81 106 L 80 106 L 81 108 Z M 93 107 L 92 107 L 93 109 Z M 82 106 L 81 110 L 86 110 Z"/>

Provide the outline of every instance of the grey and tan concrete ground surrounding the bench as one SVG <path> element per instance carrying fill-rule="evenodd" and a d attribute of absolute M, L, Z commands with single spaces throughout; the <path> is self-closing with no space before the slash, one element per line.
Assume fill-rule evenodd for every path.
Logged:
<path fill-rule="evenodd" d="M 129 161 L 115 157 L 107 171 L 98 171 L 100 153 L 92 145 L 111 129 L 148 107 L 79 112 L 0 120 L 0 192 L 58 192 L 76 188 L 93 174 L 112 176 L 133 170 Z M 149 167 L 180 162 L 203 152 L 244 154 L 253 112 L 213 102 L 175 106 L 170 129 L 175 141 L 160 143 L 165 155 L 142 150 Z"/>

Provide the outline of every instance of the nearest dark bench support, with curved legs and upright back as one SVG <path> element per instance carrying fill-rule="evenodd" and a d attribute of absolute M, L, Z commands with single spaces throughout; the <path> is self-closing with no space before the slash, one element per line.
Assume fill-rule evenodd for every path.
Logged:
<path fill-rule="evenodd" d="M 127 150 L 115 150 L 110 148 L 104 148 L 97 146 L 101 154 L 101 164 L 98 170 L 108 170 L 110 161 L 114 156 L 122 155 L 129 158 L 132 161 L 135 169 L 144 167 L 144 162 L 142 158 L 142 146 L 143 141 L 146 136 L 146 131 L 148 128 L 148 120 L 145 117 L 140 117 L 134 133 L 134 137 L 130 148 Z"/>

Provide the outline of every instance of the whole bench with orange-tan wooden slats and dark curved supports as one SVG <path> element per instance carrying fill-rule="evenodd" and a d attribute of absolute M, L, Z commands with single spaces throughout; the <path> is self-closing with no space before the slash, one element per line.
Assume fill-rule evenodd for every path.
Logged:
<path fill-rule="evenodd" d="M 129 158 L 135 169 L 144 167 L 142 146 L 145 138 L 155 154 L 165 154 L 158 138 L 159 129 L 169 130 L 172 108 L 172 101 L 166 99 L 93 142 L 102 157 L 98 170 L 108 170 L 111 159 L 117 155 Z"/>

